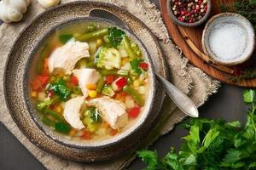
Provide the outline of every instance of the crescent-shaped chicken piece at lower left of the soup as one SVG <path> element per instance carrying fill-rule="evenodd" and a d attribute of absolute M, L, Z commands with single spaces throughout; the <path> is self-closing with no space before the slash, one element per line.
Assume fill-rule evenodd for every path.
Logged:
<path fill-rule="evenodd" d="M 65 105 L 63 116 L 65 120 L 74 128 L 84 128 L 83 122 L 80 120 L 81 107 L 84 104 L 84 97 L 76 97 L 69 99 Z"/>

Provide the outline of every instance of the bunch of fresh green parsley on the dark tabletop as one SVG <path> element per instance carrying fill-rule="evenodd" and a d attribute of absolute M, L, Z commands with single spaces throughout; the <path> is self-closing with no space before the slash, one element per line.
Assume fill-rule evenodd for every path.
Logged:
<path fill-rule="evenodd" d="M 141 150 L 137 154 L 147 164 L 147 170 L 228 170 L 256 169 L 256 97 L 247 90 L 243 99 L 250 105 L 247 122 L 191 119 L 183 123 L 189 135 L 183 137 L 181 150 L 174 148 L 160 158 L 156 151 Z"/>

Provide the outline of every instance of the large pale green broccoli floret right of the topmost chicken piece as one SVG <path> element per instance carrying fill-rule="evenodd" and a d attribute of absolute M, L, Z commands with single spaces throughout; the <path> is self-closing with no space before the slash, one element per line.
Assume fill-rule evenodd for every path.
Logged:
<path fill-rule="evenodd" d="M 95 60 L 96 67 L 112 70 L 113 68 L 120 68 L 121 55 L 115 48 L 100 48 L 96 53 Z"/>

